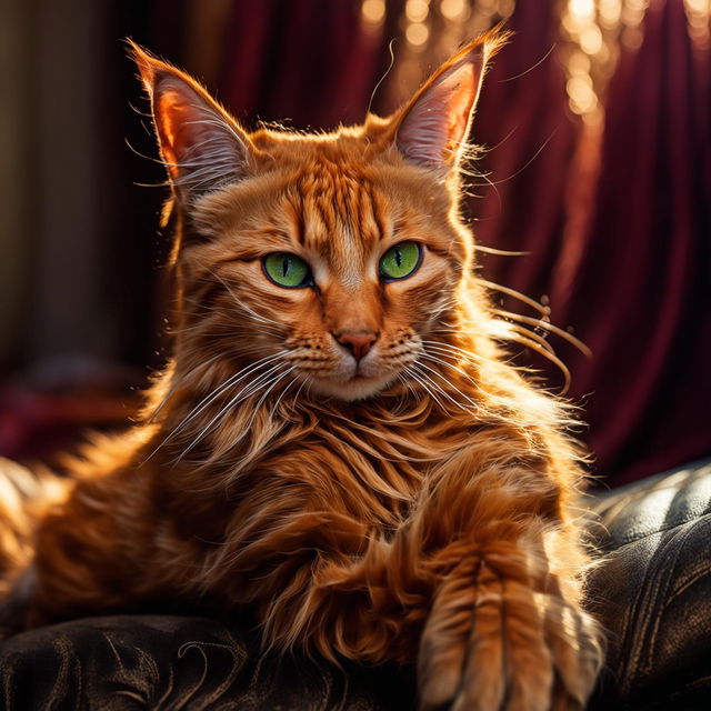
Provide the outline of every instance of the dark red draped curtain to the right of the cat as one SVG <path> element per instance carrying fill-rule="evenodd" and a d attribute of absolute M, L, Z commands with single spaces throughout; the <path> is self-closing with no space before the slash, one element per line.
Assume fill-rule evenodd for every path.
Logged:
<path fill-rule="evenodd" d="M 577 160 L 585 138 L 567 114 L 561 67 L 502 81 L 555 41 L 554 17 L 539 8 L 517 6 L 477 137 L 501 141 L 487 158 L 492 181 L 549 142 L 472 211 L 484 244 L 530 252 L 485 259 L 490 278 L 547 294 L 552 322 L 592 350 L 558 349 L 595 471 L 617 484 L 711 453 L 711 52 L 692 41 L 682 0 L 651 3 L 641 47 L 622 47 L 598 178 L 575 204 L 575 181 L 589 180 Z"/>

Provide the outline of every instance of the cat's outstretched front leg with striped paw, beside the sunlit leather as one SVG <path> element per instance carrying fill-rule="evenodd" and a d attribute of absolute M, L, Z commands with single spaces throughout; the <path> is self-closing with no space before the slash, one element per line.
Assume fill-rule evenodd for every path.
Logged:
<path fill-rule="evenodd" d="M 587 560 L 558 487 L 521 465 L 449 474 L 417 513 L 438 578 L 418 657 L 422 708 L 582 709 L 601 638 L 581 607 Z"/>

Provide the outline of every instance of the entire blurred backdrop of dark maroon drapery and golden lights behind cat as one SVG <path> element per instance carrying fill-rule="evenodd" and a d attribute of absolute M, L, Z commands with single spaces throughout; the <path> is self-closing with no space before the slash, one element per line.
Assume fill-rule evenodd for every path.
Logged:
<path fill-rule="evenodd" d="M 51 462 L 127 422 L 169 350 L 168 193 L 123 38 L 250 128 L 328 128 L 392 111 L 502 19 L 515 36 L 480 100 L 467 209 L 481 246 L 525 254 L 481 252 L 482 276 L 521 323 L 592 350 L 549 338 L 602 485 L 711 454 L 710 16 L 710 0 L 2 0 L 0 454 Z"/>

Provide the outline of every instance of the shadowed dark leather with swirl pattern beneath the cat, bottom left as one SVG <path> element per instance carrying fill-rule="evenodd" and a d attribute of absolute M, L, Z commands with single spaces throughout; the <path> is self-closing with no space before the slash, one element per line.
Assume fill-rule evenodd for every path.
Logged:
<path fill-rule="evenodd" d="M 414 708 L 410 670 L 260 659 L 257 649 L 256 638 L 206 618 L 74 620 L 0 644 L 0 705 L 7 711 Z"/>

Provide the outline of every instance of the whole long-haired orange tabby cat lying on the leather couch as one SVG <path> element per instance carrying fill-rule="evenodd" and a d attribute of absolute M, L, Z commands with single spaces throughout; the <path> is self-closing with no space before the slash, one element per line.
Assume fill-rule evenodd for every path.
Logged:
<path fill-rule="evenodd" d="M 279 650 L 417 662 L 427 708 L 584 704 L 578 453 L 499 351 L 458 213 L 495 43 L 322 136 L 247 134 L 137 50 L 179 222 L 174 357 L 12 559 L 16 625 L 204 598 Z"/>

